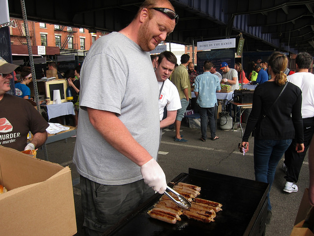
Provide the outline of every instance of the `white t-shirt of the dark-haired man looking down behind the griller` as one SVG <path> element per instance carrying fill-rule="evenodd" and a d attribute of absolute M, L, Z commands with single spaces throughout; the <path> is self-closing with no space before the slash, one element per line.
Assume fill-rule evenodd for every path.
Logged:
<path fill-rule="evenodd" d="M 158 82 L 159 89 L 162 82 Z M 159 97 L 159 118 L 163 118 L 164 107 L 167 106 L 167 111 L 177 111 L 181 108 L 181 101 L 177 87 L 169 80 L 166 79 L 162 87 Z"/>

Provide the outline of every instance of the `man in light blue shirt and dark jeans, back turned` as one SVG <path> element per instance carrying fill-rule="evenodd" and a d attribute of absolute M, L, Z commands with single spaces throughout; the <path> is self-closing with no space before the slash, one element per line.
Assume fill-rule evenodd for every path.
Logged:
<path fill-rule="evenodd" d="M 217 103 L 216 91 L 220 92 L 220 82 L 218 76 L 211 74 L 210 69 L 213 67 L 211 62 L 204 64 L 204 74 L 198 75 L 195 78 L 194 93 L 197 97 L 199 113 L 201 115 L 201 141 L 207 139 L 207 116 L 209 117 L 209 128 L 211 140 L 216 140 L 216 124 L 215 124 L 215 107 Z"/>

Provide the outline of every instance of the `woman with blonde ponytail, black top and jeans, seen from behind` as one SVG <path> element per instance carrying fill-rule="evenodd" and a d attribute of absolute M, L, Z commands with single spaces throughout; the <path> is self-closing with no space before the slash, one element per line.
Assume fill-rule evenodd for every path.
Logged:
<path fill-rule="evenodd" d="M 293 138 L 296 150 L 302 152 L 303 126 L 301 116 L 302 92 L 287 82 L 286 55 L 275 52 L 268 61 L 271 79 L 256 87 L 253 106 L 242 138 L 241 152 L 249 150 L 249 136 L 254 137 L 255 180 L 269 183 L 269 192 L 274 180 L 277 164 Z M 278 99 L 277 99 L 278 98 Z M 268 192 L 267 221 L 271 218 Z"/>

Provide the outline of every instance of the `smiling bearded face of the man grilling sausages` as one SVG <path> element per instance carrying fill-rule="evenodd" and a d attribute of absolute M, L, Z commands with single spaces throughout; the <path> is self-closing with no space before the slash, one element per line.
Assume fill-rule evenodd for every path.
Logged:
<path fill-rule="evenodd" d="M 161 6 L 158 5 L 158 7 L 170 8 L 168 4 L 165 6 L 160 5 Z M 149 52 L 154 50 L 160 42 L 166 39 L 175 28 L 176 23 L 174 19 L 170 19 L 162 12 L 147 8 L 144 8 L 142 11 L 144 10 L 150 14 L 151 18 L 147 16 L 145 21 L 141 24 L 137 34 L 137 41 L 138 45 L 144 51 Z"/>

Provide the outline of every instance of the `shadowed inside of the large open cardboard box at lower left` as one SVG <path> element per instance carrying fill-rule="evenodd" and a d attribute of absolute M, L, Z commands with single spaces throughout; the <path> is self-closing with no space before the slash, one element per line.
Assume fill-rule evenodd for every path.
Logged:
<path fill-rule="evenodd" d="M 0 183 L 8 190 L 45 181 L 64 168 L 12 148 L 0 146 L 0 153 Z"/>

